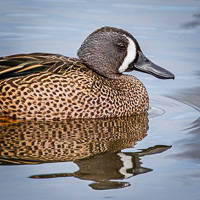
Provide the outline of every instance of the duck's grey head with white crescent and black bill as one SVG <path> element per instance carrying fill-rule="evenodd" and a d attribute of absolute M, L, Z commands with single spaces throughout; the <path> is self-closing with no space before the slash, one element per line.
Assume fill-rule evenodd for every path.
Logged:
<path fill-rule="evenodd" d="M 91 33 L 79 48 L 78 57 L 89 68 L 108 78 L 138 70 L 157 78 L 174 79 L 174 74 L 145 57 L 130 33 L 114 27 L 102 27 Z"/>

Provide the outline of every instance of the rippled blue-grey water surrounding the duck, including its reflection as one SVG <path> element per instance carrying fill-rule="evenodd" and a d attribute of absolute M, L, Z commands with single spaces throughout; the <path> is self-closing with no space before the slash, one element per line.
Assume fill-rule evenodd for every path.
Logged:
<path fill-rule="evenodd" d="M 1 199 L 200 199 L 199 13 L 197 0 L 2 1 L 2 56 L 75 57 L 111 25 L 176 79 L 132 73 L 147 86 L 148 117 L 1 126 Z"/>

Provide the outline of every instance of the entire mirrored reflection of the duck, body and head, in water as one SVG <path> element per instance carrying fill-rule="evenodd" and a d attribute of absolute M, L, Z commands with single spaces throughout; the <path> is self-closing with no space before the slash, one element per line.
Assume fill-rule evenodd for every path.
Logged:
<path fill-rule="evenodd" d="M 113 119 L 76 119 L 62 122 L 2 120 L 1 164 L 37 164 L 73 161 L 74 173 L 41 174 L 31 178 L 77 177 L 92 180 L 93 189 L 129 186 L 119 180 L 151 171 L 141 167 L 140 157 L 159 153 L 156 146 L 137 153 L 122 153 L 142 140 L 148 131 L 147 113 Z"/>

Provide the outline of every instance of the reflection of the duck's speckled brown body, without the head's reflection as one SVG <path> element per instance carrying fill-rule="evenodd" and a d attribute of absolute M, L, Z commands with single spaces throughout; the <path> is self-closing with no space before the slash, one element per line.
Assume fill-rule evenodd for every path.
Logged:
<path fill-rule="evenodd" d="M 147 135 L 148 115 L 58 122 L 23 121 L 0 127 L 1 161 L 71 161 L 132 147 Z M 2 159 L 3 158 L 3 159 Z"/>

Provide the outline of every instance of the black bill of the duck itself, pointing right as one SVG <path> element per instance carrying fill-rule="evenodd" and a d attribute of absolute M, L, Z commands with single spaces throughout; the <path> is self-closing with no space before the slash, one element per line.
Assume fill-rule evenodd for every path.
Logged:
<path fill-rule="evenodd" d="M 138 53 L 137 60 L 134 63 L 131 63 L 127 69 L 127 71 L 131 70 L 145 72 L 161 79 L 175 78 L 174 74 L 151 62 L 141 51 Z"/>

